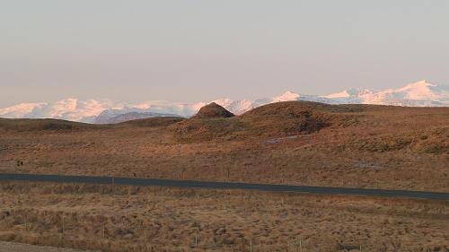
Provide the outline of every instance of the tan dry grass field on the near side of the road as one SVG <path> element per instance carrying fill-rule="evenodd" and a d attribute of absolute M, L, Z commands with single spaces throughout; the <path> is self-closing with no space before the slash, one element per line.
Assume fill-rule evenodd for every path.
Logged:
<path fill-rule="evenodd" d="M 0 184 L 0 239 L 101 251 L 449 251 L 449 203 Z"/>

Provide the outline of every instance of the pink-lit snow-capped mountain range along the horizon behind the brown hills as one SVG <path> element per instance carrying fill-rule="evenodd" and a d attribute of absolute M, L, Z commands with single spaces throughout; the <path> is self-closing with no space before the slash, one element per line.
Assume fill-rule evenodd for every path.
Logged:
<path fill-rule="evenodd" d="M 111 123 L 128 118 L 180 116 L 190 117 L 198 109 L 214 101 L 242 114 L 261 105 L 287 100 L 310 100 L 328 104 L 379 104 L 409 107 L 449 107 L 449 86 L 421 81 L 399 89 L 372 91 L 350 89 L 330 95 L 304 95 L 292 91 L 259 100 L 220 99 L 197 103 L 148 101 L 140 104 L 116 103 L 110 100 L 78 100 L 74 98 L 56 102 L 21 103 L 0 109 L 0 117 L 58 118 L 87 123 Z M 127 115 L 126 115 L 127 114 Z M 125 115 L 125 116 L 123 116 Z M 113 119 L 119 118 L 119 119 Z"/>

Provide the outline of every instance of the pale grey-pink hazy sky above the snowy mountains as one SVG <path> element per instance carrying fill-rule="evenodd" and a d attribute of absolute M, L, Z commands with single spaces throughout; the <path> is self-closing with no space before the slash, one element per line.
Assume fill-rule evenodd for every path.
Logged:
<path fill-rule="evenodd" d="M 1 0 L 0 107 L 449 84 L 449 1 Z"/>

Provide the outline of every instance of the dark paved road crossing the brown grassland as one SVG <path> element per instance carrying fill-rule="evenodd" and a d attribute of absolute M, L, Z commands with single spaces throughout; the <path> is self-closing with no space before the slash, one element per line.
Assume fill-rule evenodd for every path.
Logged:
<path fill-rule="evenodd" d="M 111 178 L 111 177 L 94 177 L 94 176 L 0 173 L 0 180 L 57 182 L 57 183 L 88 183 L 88 184 L 102 184 L 102 185 L 115 184 L 115 185 L 141 186 L 141 187 L 244 189 L 244 190 L 293 192 L 293 193 L 308 193 L 308 194 L 322 194 L 322 195 L 411 197 L 411 198 L 449 200 L 449 193 L 346 188 L 346 187 L 303 187 L 303 186 L 288 186 L 288 185 L 207 182 L 207 181 L 152 179 L 152 178 Z"/>

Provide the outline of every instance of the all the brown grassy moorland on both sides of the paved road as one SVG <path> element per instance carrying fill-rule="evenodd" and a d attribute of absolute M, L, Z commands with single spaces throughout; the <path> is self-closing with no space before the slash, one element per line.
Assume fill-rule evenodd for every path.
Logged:
<path fill-rule="evenodd" d="M 449 191 L 449 108 L 279 102 L 0 119 L 0 172 Z M 0 240 L 101 251 L 449 251 L 447 201 L 0 183 Z"/>

